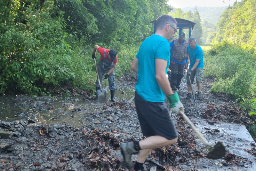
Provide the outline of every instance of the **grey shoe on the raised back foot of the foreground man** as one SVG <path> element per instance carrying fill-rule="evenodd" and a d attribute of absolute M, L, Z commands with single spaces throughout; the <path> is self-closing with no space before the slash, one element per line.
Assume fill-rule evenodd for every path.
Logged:
<path fill-rule="evenodd" d="M 133 163 L 132 163 L 132 154 L 136 154 L 138 153 L 138 151 L 136 151 L 133 148 L 134 144 L 133 142 L 129 142 L 129 143 L 121 143 L 120 144 L 120 150 L 121 153 L 124 157 L 124 164 L 128 169 L 131 169 L 133 167 Z"/>

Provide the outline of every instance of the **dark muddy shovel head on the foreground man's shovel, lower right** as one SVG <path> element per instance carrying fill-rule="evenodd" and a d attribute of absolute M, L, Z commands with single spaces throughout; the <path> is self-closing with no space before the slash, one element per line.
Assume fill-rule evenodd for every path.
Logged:
<path fill-rule="evenodd" d="M 207 154 L 208 159 L 221 159 L 226 155 L 226 150 L 221 142 L 218 142 L 214 147 L 211 148 L 210 152 Z"/>

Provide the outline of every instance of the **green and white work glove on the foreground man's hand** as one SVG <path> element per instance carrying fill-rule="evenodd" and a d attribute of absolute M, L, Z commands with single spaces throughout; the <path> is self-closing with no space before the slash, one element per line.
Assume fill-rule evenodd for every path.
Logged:
<path fill-rule="evenodd" d="M 167 97 L 167 100 L 170 103 L 170 107 L 171 107 L 172 112 L 174 112 L 176 114 L 179 114 L 180 111 L 185 112 L 184 111 L 184 106 L 180 102 L 180 98 L 178 96 L 178 93 L 174 93 L 174 94 L 172 94 L 170 96 L 166 96 L 166 97 Z"/>

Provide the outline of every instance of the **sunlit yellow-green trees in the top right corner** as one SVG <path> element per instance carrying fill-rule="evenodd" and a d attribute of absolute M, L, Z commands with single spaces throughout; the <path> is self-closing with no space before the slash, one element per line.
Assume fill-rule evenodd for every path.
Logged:
<path fill-rule="evenodd" d="M 239 42 L 249 48 L 256 46 L 256 1 L 242 0 L 235 3 L 231 8 L 227 8 L 219 23 L 217 24 L 217 34 L 213 43 L 222 40 Z"/>

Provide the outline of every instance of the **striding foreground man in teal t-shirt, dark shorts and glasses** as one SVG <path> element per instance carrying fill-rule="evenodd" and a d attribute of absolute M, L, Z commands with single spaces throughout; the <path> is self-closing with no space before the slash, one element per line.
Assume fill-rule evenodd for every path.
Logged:
<path fill-rule="evenodd" d="M 132 171 L 143 171 L 143 163 L 151 149 L 171 145 L 177 141 L 177 130 L 170 112 L 164 104 L 166 95 L 172 112 L 184 111 L 177 93 L 173 93 L 166 78 L 170 64 L 170 45 L 177 29 L 177 22 L 169 15 L 162 15 L 156 21 L 156 33 L 143 41 L 132 62 L 131 69 L 138 73 L 135 86 L 135 105 L 143 136 L 137 142 L 122 143 L 121 153 L 126 167 L 133 167 L 131 156 L 138 154 Z"/>

